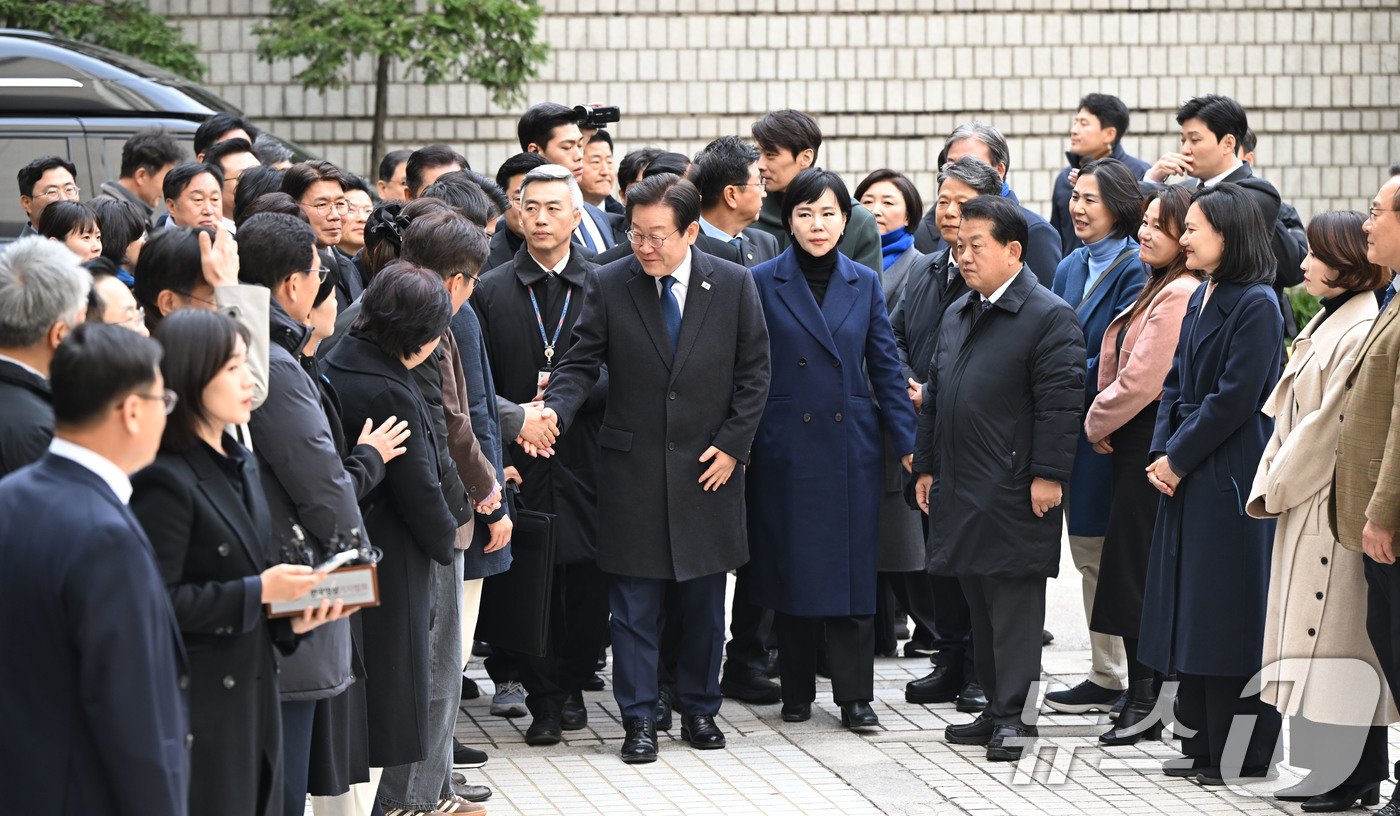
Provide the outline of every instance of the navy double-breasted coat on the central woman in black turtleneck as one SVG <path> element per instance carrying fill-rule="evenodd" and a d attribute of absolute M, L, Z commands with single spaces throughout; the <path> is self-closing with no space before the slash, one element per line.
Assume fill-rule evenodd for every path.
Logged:
<path fill-rule="evenodd" d="M 773 361 L 748 472 L 753 600 L 797 616 L 875 614 L 881 425 L 903 456 L 917 424 L 879 277 L 841 255 L 818 307 L 788 248 L 753 281 Z"/>

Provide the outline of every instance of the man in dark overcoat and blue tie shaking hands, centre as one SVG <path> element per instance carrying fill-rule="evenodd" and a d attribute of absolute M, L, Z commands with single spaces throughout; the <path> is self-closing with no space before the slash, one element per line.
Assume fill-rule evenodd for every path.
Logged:
<path fill-rule="evenodd" d="M 598 444 L 598 565 L 612 586 L 624 761 L 657 759 L 666 592 L 678 598 L 682 739 L 722 747 L 725 572 L 748 561 L 743 470 L 769 389 L 769 335 L 739 265 L 692 251 L 700 195 L 671 174 L 627 190 L 633 258 L 594 273 L 545 405 L 567 438 L 608 367 Z"/>

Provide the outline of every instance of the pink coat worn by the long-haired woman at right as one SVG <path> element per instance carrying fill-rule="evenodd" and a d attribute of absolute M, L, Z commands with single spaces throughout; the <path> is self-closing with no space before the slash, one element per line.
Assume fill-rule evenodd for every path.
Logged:
<path fill-rule="evenodd" d="M 1200 280 L 1183 274 L 1156 293 L 1133 325 L 1124 329 L 1127 311 L 1109 323 L 1099 350 L 1099 396 L 1084 417 L 1084 435 L 1089 442 L 1112 435 L 1162 396 L 1176 340 L 1182 336 L 1186 302 L 1200 286 Z M 1124 330 L 1120 357 L 1119 333 Z"/>

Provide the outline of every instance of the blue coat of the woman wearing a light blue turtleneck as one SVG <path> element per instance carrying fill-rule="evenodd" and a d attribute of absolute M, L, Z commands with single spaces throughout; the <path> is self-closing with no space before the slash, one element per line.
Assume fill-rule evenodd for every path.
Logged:
<path fill-rule="evenodd" d="M 1116 263 L 1093 284 L 1089 297 L 1084 297 L 1084 284 L 1089 280 L 1089 248 L 1081 246 L 1067 255 L 1054 273 L 1054 294 L 1074 307 L 1084 328 L 1084 353 L 1086 371 L 1084 381 L 1084 410 L 1099 396 L 1099 349 L 1103 346 L 1103 332 L 1113 318 L 1133 305 L 1147 274 L 1138 259 L 1137 241 L 1128 239 L 1124 252 Z M 1070 476 L 1070 535 L 1102 536 L 1109 530 L 1109 507 L 1113 504 L 1113 456 L 1095 453 L 1093 445 L 1079 430 L 1079 448 L 1074 456 L 1074 473 Z"/>

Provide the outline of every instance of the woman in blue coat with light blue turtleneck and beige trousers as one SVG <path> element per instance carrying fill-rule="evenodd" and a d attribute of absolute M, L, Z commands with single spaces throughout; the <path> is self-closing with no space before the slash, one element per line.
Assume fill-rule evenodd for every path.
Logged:
<path fill-rule="evenodd" d="M 1070 193 L 1070 218 L 1084 246 L 1060 262 L 1050 290 L 1074 307 L 1084 328 L 1084 407 L 1088 410 L 1099 391 L 1103 332 L 1142 291 L 1144 272 L 1138 262 L 1138 244 L 1133 239 L 1142 221 L 1142 192 L 1137 179 L 1116 158 L 1085 164 Z M 1113 459 L 1095 451 L 1088 438 L 1079 434 L 1065 518 L 1070 526 L 1070 556 L 1081 575 L 1085 620 L 1093 616 L 1112 493 Z M 1072 689 L 1046 694 L 1046 705 L 1053 711 L 1109 711 L 1123 696 L 1123 641 L 1091 631 L 1089 647 L 1089 676 Z"/>

